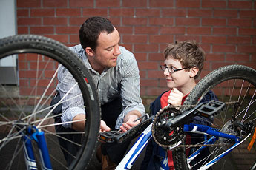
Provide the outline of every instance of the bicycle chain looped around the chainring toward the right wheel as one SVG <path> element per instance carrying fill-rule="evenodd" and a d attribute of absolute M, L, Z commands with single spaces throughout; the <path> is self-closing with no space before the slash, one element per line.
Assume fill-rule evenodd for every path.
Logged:
<path fill-rule="evenodd" d="M 235 101 L 225 102 L 226 105 L 234 104 L 234 103 L 237 103 L 237 102 L 235 102 Z M 161 146 L 161 147 L 163 147 L 165 149 L 171 149 L 171 148 L 174 148 L 176 143 L 180 142 L 180 140 L 177 140 L 174 144 L 163 145 L 162 143 L 160 143 L 157 140 L 157 137 L 155 136 L 155 126 L 156 126 L 157 118 L 159 118 L 160 115 L 162 115 L 168 109 L 178 109 L 178 110 L 183 109 L 183 110 L 186 110 L 186 109 L 194 107 L 194 106 L 197 106 L 197 105 L 186 105 L 186 106 L 184 106 L 184 105 L 182 105 L 182 106 L 171 106 L 171 105 L 169 105 L 169 106 L 165 106 L 163 109 L 160 109 L 160 111 L 157 112 L 157 114 L 154 117 L 154 121 L 153 121 L 153 125 L 152 125 L 152 136 L 154 138 L 154 141 L 157 143 L 157 145 L 159 145 L 159 146 Z M 180 114 L 181 114 L 181 112 L 180 112 Z M 181 129 L 181 127 L 180 127 L 180 129 Z M 200 145 L 198 145 L 198 144 L 197 145 L 179 145 L 179 146 L 175 146 L 175 148 L 176 147 L 220 146 L 220 145 L 224 146 L 224 145 L 228 145 L 228 144 L 217 143 L 217 144 L 200 144 Z"/>

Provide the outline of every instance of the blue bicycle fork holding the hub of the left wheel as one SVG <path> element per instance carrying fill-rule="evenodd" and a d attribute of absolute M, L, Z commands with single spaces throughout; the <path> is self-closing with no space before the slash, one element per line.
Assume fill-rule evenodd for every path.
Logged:
<path fill-rule="evenodd" d="M 50 163 L 50 156 L 47 149 L 47 144 L 45 140 L 45 132 L 42 132 L 40 129 L 36 129 L 36 127 L 27 127 L 27 133 L 24 134 L 22 132 L 22 140 L 24 146 L 24 159 L 27 165 L 27 169 L 34 170 L 37 169 L 36 166 L 36 158 L 33 152 L 32 140 L 35 140 L 37 146 L 39 148 L 39 155 L 42 169 L 49 170 L 52 169 Z"/>

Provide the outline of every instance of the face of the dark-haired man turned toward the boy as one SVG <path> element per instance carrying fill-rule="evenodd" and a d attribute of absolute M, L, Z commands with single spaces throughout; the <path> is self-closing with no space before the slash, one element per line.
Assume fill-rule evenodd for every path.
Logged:
<path fill-rule="evenodd" d="M 119 33 L 114 29 L 110 34 L 100 33 L 98 38 L 98 45 L 93 56 L 93 65 L 100 72 L 105 67 L 115 67 L 119 51 L 120 37 Z"/>

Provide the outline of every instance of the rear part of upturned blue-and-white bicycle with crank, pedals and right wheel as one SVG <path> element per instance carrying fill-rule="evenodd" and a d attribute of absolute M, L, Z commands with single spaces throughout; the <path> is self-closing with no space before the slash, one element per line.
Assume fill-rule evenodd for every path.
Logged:
<path fill-rule="evenodd" d="M 242 65 L 220 67 L 199 81 L 178 109 L 166 106 L 131 132 L 100 134 L 105 142 L 118 143 L 148 126 L 116 169 L 131 169 L 151 137 L 172 150 L 175 169 L 249 169 L 256 158 L 251 149 L 256 137 L 255 75 L 255 69 Z M 200 103 L 210 90 L 217 98 Z M 197 115 L 209 118 L 211 126 L 191 123 Z M 200 154 L 204 151 L 208 154 Z"/>

